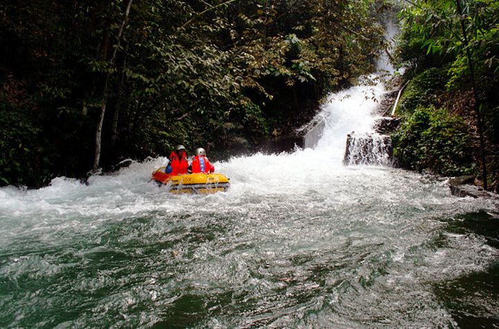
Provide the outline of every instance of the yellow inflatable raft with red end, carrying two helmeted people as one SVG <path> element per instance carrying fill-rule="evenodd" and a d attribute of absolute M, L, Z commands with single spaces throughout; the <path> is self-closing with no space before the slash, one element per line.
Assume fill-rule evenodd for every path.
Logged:
<path fill-rule="evenodd" d="M 209 194 L 225 192 L 229 186 L 229 178 L 222 174 L 185 174 L 170 175 L 164 172 L 165 167 L 161 167 L 152 172 L 152 179 L 158 184 L 168 186 L 170 193 L 198 193 Z"/>

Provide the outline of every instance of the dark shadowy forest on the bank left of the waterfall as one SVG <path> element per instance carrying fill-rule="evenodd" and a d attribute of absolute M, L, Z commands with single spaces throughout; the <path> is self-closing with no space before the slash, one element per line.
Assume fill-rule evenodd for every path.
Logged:
<path fill-rule="evenodd" d="M 126 8 L 130 6 L 130 11 Z M 250 150 L 372 68 L 383 3 L 0 3 L 1 184 L 168 154 Z M 105 110 L 105 111 L 104 111 Z"/>

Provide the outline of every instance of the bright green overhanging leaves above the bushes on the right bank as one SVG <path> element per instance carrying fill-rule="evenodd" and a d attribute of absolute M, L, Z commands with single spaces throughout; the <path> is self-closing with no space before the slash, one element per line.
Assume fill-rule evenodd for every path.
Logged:
<path fill-rule="evenodd" d="M 497 80 L 499 70 L 499 1 L 459 1 L 463 15 L 455 0 L 416 1 L 404 8 L 400 60 L 410 66 L 409 75 L 449 64 L 448 87 L 460 87 L 471 78 L 465 58 L 468 48 L 473 50 L 475 73 L 490 79 L 478 81 L 482 87 L 489 87 L 492 80 Z"/>

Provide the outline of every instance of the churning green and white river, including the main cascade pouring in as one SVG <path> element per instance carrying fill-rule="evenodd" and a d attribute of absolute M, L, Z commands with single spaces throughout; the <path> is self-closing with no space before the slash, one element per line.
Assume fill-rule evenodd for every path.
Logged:
<path fill-rule="evenodd" d="M 170 195 L 166 158 L 0 188 L 0 327 L 497 328 L 498 205 L 342 164 L 382 92 L 331 96 L 313 149 L 216 162 L 227 193 Z"/>

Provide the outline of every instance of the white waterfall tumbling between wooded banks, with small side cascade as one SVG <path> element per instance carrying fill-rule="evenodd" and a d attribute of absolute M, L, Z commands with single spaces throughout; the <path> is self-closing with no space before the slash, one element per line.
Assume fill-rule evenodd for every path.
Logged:
<path fill-rule="evenodd" d="M 386 24 L 386 30 L 385 38 L 390 42 L 398 30 L 392 22 Z M 391 163 L 391 139 L 376 130 L 375 122 L 383 118 L 374 113 L 387 93 L 386 79 L 395 72 L 388 51 L 389 48 L 380 54 L 376 73 L 361 78 L 357 86 L 329 96 L 319 114 L 302 128 L 306 130 L 304 148 L 329 152 L 345 165 Z"/>

